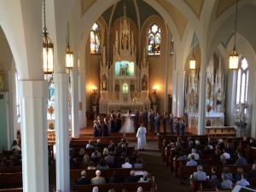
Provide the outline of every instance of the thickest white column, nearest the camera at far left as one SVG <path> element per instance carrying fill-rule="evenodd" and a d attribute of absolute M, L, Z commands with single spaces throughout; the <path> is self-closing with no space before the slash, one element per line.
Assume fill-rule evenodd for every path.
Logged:
<path fill-rule="evenodd" d="M 21 107 L 23 191 L 49 191 L 47 81 L 19 81 L 18 88 Z"/>

